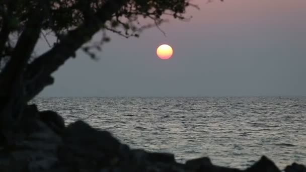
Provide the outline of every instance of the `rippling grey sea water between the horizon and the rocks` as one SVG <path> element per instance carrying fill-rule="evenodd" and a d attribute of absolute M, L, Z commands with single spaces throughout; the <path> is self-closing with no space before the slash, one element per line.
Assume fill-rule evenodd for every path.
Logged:
<path fill-rule="evenodd" d="M 261 155 L 284 168 L 306 164 L 304 97 L 39 97 L 66 124 L 82 119 L 132 148 L 175 153 L 177 161 L 209 156 L 245 168 Z"/>

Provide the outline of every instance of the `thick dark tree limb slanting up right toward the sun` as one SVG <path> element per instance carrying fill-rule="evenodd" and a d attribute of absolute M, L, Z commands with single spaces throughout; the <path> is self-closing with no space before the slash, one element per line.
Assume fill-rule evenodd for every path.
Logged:
<path fill-rule="evenodd" d="M 110 0 L 100 8 L 92 21 L 86 22 L 77 29 L 69 31 L 58 44 L 51 50 L 36 58 L 27 68 L 27 79 L 33 78 L 35 73 L 40 73 L 36 79 L 26 87 L 26 100 L 33 99 L 47 85 L 53 83 L 51 73 L 56 71 L 59 66 L 71 56 L 74 56 L 84 43 L 91 40 L 92 36 L 97 33 L 106 21 L 112 19 L 112 15 L 119 11 L 128 0 Z M 52 79 L 51 79 L 52 78 Z"/>

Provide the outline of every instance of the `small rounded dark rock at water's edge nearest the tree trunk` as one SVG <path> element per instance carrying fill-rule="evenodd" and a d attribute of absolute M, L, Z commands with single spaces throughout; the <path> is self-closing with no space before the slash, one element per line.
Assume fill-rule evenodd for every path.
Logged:
<path fill-rule="evenodd" d="M 56 133 L 62 133 L 65 128 L 64 119 L 53 111 L 41 111 L 39 112 L 40 119 L 52 128 Z"/>

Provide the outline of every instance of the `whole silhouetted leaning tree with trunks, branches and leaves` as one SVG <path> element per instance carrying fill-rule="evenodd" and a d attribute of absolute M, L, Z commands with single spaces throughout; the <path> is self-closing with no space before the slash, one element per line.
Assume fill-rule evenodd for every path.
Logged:
<path fill-rule="evenodd" d="M 189 0 L 1 0 L 0 1 L 0 129 L 8 135 L 20 123 L 28 102 L 54 82 L 51 74 L 99 31 L 135 36 L 158 26 L 163 15 L 185 20 Z M 196 6 L 194 6 L 196 7 Z M 152 25 L 139 25 L 139 18 Z M 50 49 L 35 56 L 46 34 L 56 37 Z M 46 41 L 48 41 L 46 39 Z"/>

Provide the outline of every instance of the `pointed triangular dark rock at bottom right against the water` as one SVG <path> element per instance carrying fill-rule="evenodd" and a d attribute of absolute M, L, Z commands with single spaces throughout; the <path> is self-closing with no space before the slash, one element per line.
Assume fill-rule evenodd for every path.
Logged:
<path fill-rule="evenodd" d="M 279 168 L 274 164 L 272 160 L 266 156 L 262 156 L 259 161 L 255 162 L 252 166 L 247 168 L 247 172 L 280 172 Z"/>

